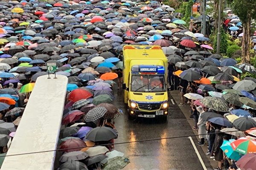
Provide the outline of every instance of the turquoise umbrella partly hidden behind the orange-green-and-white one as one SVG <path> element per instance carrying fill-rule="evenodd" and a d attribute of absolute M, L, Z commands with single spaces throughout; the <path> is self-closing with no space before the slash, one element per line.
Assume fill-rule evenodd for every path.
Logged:
<path fill-rule="evenodd" d="M 234 159 L 238 161 L 241 158 L 241 154 L 233 150 L 230 143 L 233 142 L 234 139 L 230 139 L 229 141 L 223 141 L 223 144 L 221 145 L 221 149 L 223 152 L 227 155 L 228 158 Z"/>

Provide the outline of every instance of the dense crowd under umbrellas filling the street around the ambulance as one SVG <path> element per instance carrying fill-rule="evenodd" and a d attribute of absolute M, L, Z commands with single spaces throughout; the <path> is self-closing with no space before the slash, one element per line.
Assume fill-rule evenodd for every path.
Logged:
<path fill-rule="evenodd" d="M 215 134 L 231 125 L 220 125 L 211 118 L 219 116 L 219 119 L 225 117 L 230 120 L 230 116 L 233 116 L 232 119 L 239 120 L 233 121 L 238 130 L 256 127 L 252 119 L 256 109 L 256 80 L 248 77 L 240 81 L 241 74 L 256 74 L 256 70 L 252 65 L 236 65 L 233 59 L 212 54 L 212 47 L 206 45 L 209 38 L 200 33 L 200 26 L 188 30 L 183 26 L 186 22 L 180 16 L 174 8 L 152 0 L 1 1 L 2 156 L 8 152 L 9 139 L 15 138 L 16 128 L 36 79 L 47 75 L 47 63 L 53 62 L 57 66 L 56 74 L 68 77 L 62 120 L 65 128 L 60 133 L 58 168 L 100 169 L 113 168 L 114 165 L 120 168 L 121 165 L 116 162 L 122 162 L 122 167 L 127 165 L 129 159 L 113 150 L 113 140 L 117 137 L 113 119 L 123 113 L 111 104 L 113 85 L 117 82 L 117 88 L 121 89 L 122 47 L 160 45 L 169 61 L 169 85 L 172 90 L 180 91 L 180 107 L 186 104 L 184 96 L 189 99 L 191 115 L 195 119 L 193 128 L 198 129 L 200 134 L 201 141 L 198 144 L 204 145 L 208 140 L 207 155 L 214 156 L 219 163 L 218 169 L 221 169 L 221 163 L 229 160 L 223 161 L 224 155 L 219 149 L 223 140 L 232 143 L 234 141 L 230 140 L 241 136 Z M 229 95 L 239 104 L 230 101 Z M 209 116 L 212 114 L 218 115 Z M 237 117 L 234 118 L 234 115 Z M 243 127 L 244 123 L 240 119 L 255 123 L 250 122 L 253 126 Z M 206 132 L 209 135 L 204 135 Z M 97 136 L 96 133 L 101 135 Z M 243 133 L 244 136 L 247 133 Z M 240 157 L 239 160 L 237 157 L 233 159 L 237 165 L 242 159 Z"/>

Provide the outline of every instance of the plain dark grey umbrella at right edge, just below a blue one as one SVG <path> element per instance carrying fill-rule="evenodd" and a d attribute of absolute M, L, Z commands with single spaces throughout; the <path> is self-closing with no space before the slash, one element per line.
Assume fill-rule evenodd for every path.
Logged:
<path fill-rule="evenodd" d="M 246 130 L 256 127 L 256 121 L 248 117 L 239 117 L 238 119 L 234 120 L 233 124 L 239 130 Z"/>

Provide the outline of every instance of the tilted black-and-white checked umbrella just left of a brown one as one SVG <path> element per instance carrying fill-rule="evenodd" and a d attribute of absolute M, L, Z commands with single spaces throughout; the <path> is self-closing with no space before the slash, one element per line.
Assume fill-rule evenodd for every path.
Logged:
<path fill-rule="evenodd" d="M 107 111 L 108 110 L 105 107 L 93 108 L 92 110 L 88 111 L 88 113 L 84 116 L 84 120 L 85 122 L 93 122 L 103 117 Z"/>

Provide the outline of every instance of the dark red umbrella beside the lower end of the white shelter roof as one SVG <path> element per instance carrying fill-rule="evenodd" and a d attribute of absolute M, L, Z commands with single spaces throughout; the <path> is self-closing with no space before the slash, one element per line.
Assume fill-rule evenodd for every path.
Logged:
<path fill-rule="evenodd" d="M 74 147 L 86 147 L 86 144 L 81 139 L 67 139 L 66 141 L 62 142 L 60 145 L 60 149 L 64 149 L 62 150 L 64 152 L 73 152 L 73 151 L 79 151 L 82 149 L 82 148 L 70 149 Z"/>

